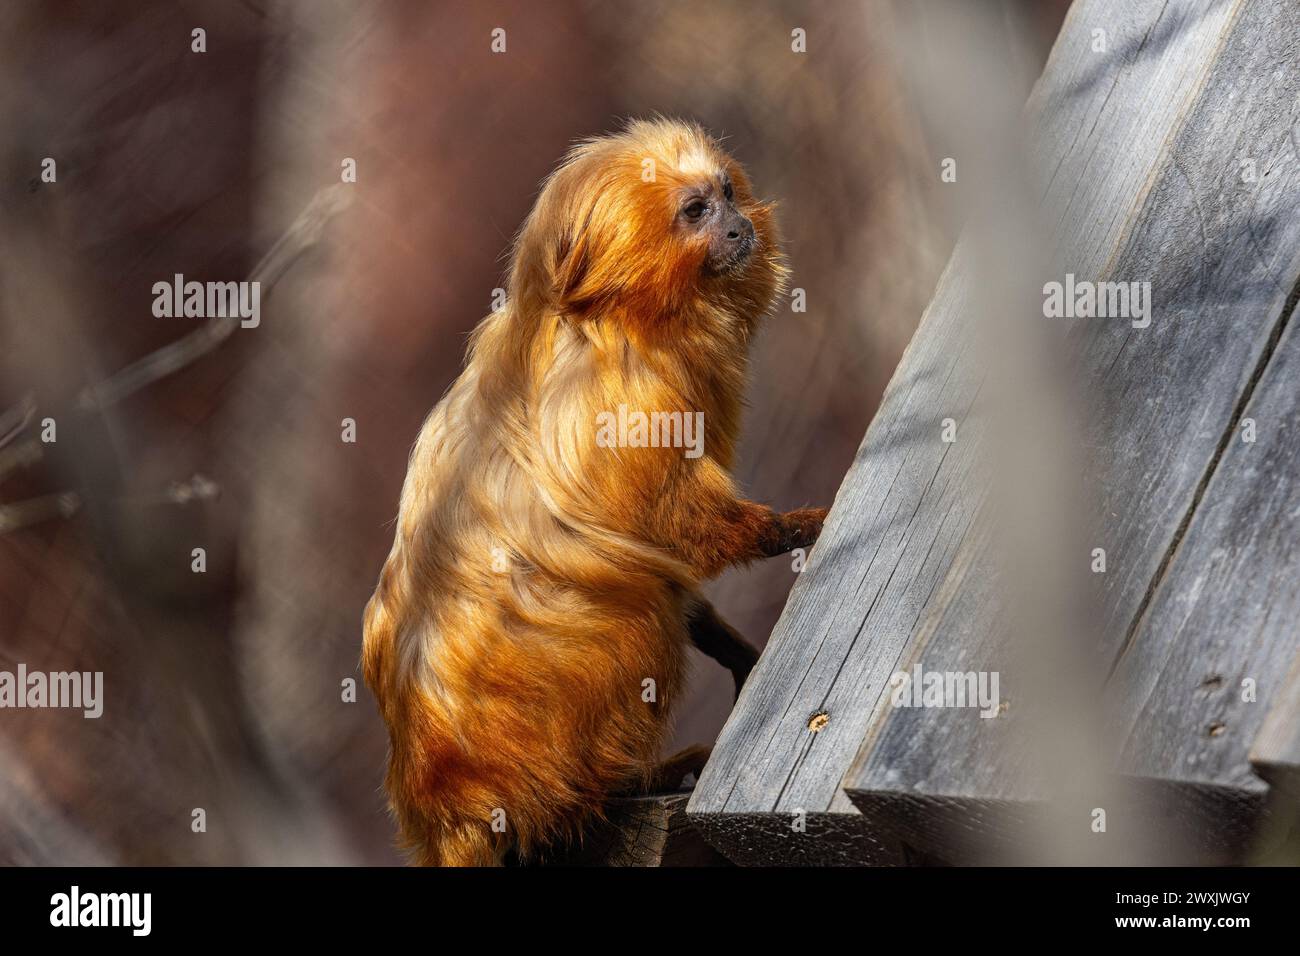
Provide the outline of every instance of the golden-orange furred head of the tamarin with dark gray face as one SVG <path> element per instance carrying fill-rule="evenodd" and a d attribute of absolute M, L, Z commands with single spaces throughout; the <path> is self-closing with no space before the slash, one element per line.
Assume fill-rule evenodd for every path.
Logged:
<path fill-rule="evenodd" d="M 650 332 L 719 312 L 753 323 L 784 276 L 772 206 L 741 165 L 659 118 L 569 152 L 516 242 L 511 295 Z"/>

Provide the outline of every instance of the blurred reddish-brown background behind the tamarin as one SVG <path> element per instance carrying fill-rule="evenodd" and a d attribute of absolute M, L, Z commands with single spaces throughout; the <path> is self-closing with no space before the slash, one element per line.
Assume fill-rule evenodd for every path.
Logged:
<path fill-rule="evenodd" d="M 625 117 L 701 121 L 780 200 L 807 311 L 781 303 L 757 345 L 737 477 L 828 505 L 957 229 L 944 126 L 890 43 L 909 7 L 5 4 L 0 414 L 58 440 L 0 447 L 0 667 L 104 671 L 105 704 L 0 711 L 0 861 L 398 860 L 385 732 L 341 682 L 361 683 L 407 451 L 540 181 Z M 1066 0 L 1000 7 L 1036 72 Z M 264 289 L 260 328 L 78 407 L 199 324 L 153 317 L 153 282 L 247 278 L 344 157 L 351 204 Z M 792 583 L 774 559 L 711 593 L 762 643 Z M 711 740 L 731 702 L 697 658 L 670 747 Z"/>

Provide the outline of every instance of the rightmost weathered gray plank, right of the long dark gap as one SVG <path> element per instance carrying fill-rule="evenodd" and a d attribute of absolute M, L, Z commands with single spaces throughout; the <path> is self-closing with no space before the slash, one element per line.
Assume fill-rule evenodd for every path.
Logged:
<path fill-rule="evenodd" d="M 1292 185 L 1300 191 L 1300 173 Z M 1231 838 L 1253 830 L 1265 806 L 1266 784 L 1249 752 L 1270 709 L 1282 726 L 1262 739 L 1265 752 L 1282 771 L 1290 735 L 1292 761 L 1296 754 L 1297 724 L 1287 728 L 1284 721 L 1286 675 L 1300 648 L 1297 381 L 1300 328 L 1292 316 L 1242 414 L 1254 424 L 1254 441 L 1234 427 L 1114 678 L 1121 770 L 1213 787 L 1202 792 L 1227 804 L 1176 813 L 1179 788 L 1170 793 L 1174 816 L 1186 818 L 1184 843 L 1214 861 L 1238 862 L 1249 849 Z"/>

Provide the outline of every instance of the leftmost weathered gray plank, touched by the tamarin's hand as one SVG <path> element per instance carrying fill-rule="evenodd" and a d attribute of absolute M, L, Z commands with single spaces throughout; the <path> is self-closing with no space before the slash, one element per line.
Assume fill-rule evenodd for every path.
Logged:
<path fill-rule="evenodd" d="M 1232 21 L 1232 4 L 1076 3 L 1028 117 L 1044 208 L 1066 268 L 1097 277 L 1123 247 Z M 1093 30 L 1108 31 L 1106 52 Z M 737 858 L 790 858 L 789 821 L 810 826 L 806 861 L 889 861 L 900 848 L 867 826 L 840 783 L 889 675 L 906 658 L 979 507 L 982 369 L 963 321 L 976 250 L 961 243 L 863 440 L 807 571 L 714 749 L 690 803 Z M 953 418 L 963 440 L 940 441 Z M 826 726 L 809 728 L 826 713 Z"/>

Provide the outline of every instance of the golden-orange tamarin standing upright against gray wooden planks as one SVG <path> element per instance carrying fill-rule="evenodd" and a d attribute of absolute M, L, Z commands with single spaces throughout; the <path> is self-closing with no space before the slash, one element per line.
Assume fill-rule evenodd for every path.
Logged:
<path fill-rule="evenodd" d="M 826 515 L 776 514 L 729 475 L 749 342 L 784 277 L 772 207 L 698 126 L 632 122 L 546 181 L 506 304 L 412 449 L 365 609 L 419 862 L 526 860 L 611 793 L 699 770 L 705 748 L 656 767 L 686 644 L 737 692 L 757 652 L 697 588 L 811 545 Z"/>

